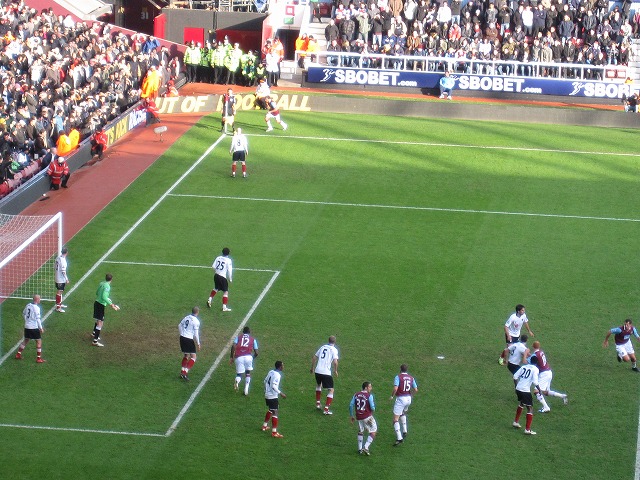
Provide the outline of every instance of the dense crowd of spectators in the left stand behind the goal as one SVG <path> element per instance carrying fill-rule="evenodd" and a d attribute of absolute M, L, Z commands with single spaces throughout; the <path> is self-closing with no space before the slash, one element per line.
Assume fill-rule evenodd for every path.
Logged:
<path fill-rule="evenodd" d="M 153 37 L 0 0 L 0 196 L 179 72 Z"/>

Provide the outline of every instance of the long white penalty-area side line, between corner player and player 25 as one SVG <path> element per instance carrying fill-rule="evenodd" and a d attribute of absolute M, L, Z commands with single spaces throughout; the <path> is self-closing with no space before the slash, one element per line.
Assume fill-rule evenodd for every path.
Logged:
<path fill-rule="evenodd" d="M 370 203 L 320 202 L 314 200 L 287 200 L 280 198 L 228 197 L 224 195 L 170 194 L 171 197 L 212 198 L 219 200 L 242 200 L 250 202 L 297 203 L 334 207 L 386 208 L 391 210 L 414 210 L 425 212 L 476 213 L 483 215 L 512 215 L 516 217 L 571 218 L 576 220 L 601 220 L 609 222 L 640 222 L 640 218 L 592 217 L 588 215 L 563 215 L 555 213 L 501 212 L 496 210 L 467 210 L 463 208 L 411 207 L 404 205 L 379 205 Z"/>

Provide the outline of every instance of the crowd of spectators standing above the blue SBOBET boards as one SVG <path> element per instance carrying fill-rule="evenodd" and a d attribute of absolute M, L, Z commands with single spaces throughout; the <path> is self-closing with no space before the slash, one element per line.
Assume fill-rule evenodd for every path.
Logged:
<path fill-rule="evenodd" d="M 326 50 L 342 55 L 327 56 L 327 62 L 356 66 L 345 53 L 373 53 L 362 66 L 424 69 L 427 62 L 400 59 L 428 56 L 447 59 L 436 68 L 483 73 L 489 67 L 474 62 L 479 71 L 471 72 L 471 61 L 509 61 L 524 66 L 516 71 L 501 65 L 486 73 L 541 76 L 559 70 L 534 71 L 526 64 L 627 65 L 631 39 L 640 34 L 640 11 L 632 15 L 631 5 L 632 0 L 613 8 L 609 0 L 335 0 L 325 28 Z M 304 55 L 304 44 L 300 50 Z M 595 78 L 600 70 L 591 74 Z"/>

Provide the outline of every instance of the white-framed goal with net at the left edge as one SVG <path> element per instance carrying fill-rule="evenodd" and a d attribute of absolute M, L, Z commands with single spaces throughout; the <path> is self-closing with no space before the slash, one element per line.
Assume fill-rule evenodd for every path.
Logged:
<path fill-rule="evenodd" d="M 62 250 L 62 213 L 51 216 L 0 214 L 0 301 L 55 301 L 53 264 Z"/>

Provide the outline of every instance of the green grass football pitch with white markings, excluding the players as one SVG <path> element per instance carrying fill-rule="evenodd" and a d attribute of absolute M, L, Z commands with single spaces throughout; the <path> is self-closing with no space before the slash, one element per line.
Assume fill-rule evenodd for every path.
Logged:
<path fill-rule="evenodd" d="M 265 134 L 262 115 L 238 115 L 248 179 L 230 178 L 228 138 L 204 156 L 219 138 L 207 117 L 69 243 L 74 290 L 45 323 L 48 363 L 29 345 L 0 365 L 3 478 L 634 478 L 640 376 L 602 341 L 639 320 L 636 131 L 284 112 L 290 129 Z M 233 311 L 203 308 L 183 383 L 177 324 L 205 307 L 224 246 Z M 106 272 L 122 310 L 94 349 Z M 513 383 L 496 361 L 516 303 L 570 398 L 535 415 L 536 437 L 511 428 Z M 2 307 L 3 353 L 23 305 Z M 244 321 L 260 342 L 248 397 L 222 355 Z M 309 367 L 330 334 L 341 361 L 325 417 Z M 280 440 L 260 431 L 277 359 Z M 394 448 L 404 362 L 420 392 Z M 370 457 L 348 418 L 364 380 Z"/>

